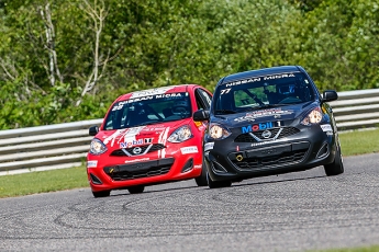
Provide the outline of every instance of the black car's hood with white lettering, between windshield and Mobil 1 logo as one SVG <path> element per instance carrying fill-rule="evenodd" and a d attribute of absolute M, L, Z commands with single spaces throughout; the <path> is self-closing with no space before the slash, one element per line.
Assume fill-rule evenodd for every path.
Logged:
<path fill-rule="evenodd" d="M 258 108 L 236 114 L 214 115 L 212 123 L 219 123 L 226 127 L 241 127 L 247 124 L 259 124 L 276 121 L 293 121 L 299 116 L 319 106 L 319 102 L 308 102 L 301 104 Z"/>

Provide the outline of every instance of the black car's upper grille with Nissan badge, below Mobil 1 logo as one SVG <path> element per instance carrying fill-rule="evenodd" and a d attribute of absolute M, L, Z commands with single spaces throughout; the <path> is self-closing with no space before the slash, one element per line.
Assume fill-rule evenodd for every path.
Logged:
<path fill-rule="evenodd" d="M 281 129 L 279 136 L 277 138 L 275 138 L 275 136 L 277 136 L 277 134 L 279 133 L 279 130 Z M 255 131 L 255 133 L 245 133 L 245 134 L 241 134 L 238 135 L 234 141 L 235 142 L 258 142 L 259 140 L 257 140 L 256 138 L 254 138 L 252 136 L 252 134 L 254 136 L 256 136 L 257 138 L 259 138 L 260 140 L 269 140 L 269 139 L 280 139 L 283 137 L 289 137 L 291 135 L 294 135 L 297 133 L 299 133 L 300 130 L 296 127 L 283 127 L 283 128 L 272 128 L 272 129 L 268 129 L 271 133 L 271 137 L 270 138 L 264 138 L 261 136 L 261 134 L 266 130 L 259 130 L 259 131 Z"/>

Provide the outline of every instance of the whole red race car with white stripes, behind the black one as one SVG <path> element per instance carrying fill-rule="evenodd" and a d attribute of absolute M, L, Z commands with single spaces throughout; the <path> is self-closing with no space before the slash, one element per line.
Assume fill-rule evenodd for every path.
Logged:
<path fill-rule="evenodd" d="M 205 123 L 192 113 L 209 110 L 212 94 L 197 84 L 170 85 L 119 96 L 87 154 L 87 174 L 94 197 L 112 190 L 142 193 L 146 185 L 194 179 L 208 185 L 202 164 Z"/>

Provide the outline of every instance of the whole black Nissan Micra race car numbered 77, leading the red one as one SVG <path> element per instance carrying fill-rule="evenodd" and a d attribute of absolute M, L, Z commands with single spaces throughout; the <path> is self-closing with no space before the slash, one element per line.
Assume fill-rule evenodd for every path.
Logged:
<path fill-rule="evenodd" d="M 210 111 L 193 113 L 208 121 L 203 162 L 209 187 L 324 165 L 326 175 L 344 172 L 330 101 L 308 72 L 282 66 L 238 72 L 222 78 Z"/>

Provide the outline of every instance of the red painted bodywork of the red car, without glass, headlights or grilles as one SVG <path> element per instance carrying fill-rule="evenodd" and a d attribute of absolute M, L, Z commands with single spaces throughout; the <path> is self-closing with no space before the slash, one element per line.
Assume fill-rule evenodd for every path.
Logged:
<path fill-rule="evenodd" d="M 199 88 L 207 91 L 200 85 L 188 84 L 124 94 L 113 102 L 105 115 L 105 118 L 108 114 L 111 113 L 113 105 L 121 101 L 141 98 L 146 94 L 156 95 L 157 93 L 163 92 L 164 94 L 188 92 L 191 103 L 191 111 L 193 113 L 199 108 L 194 96 L 194 90 Z M 207 92 L 211 95 L 209 91 Z M 94 138 L 101 140 L 105 145 L 107 151 L 101 154 L 93 154 L 91 152 L 87 154 L 87 173 L 92 192 L 122 190 L 135 185 L 152 185 L 200 176 L 202 171 L 202 137 L 207 128 L 205 124 L 202 123 L 200 126 L 197 126 L 199 123 L 196 124 L 191 116 L 174 122 L 159 122 L 153 125 L 121 129 L 105 130 L 104 124 L 105 119 L 100 126 L 99 133 L 94 136 Z M 188 125 L 190 127 L 192 137 L 182 142 L 167 141 L 168 137 L 176 129 L 183 125 Z M 149 149 L 149 152 L 143 153 L 146 146 L 158 145 L 164 146 L 165 148 L 154 151 L 151 151 L 152 149 Z M 137 152 L 140 150 L 136 147 L 141 147 L 141 153 L 133 153 L 133 151 Z M 111 153 L 113 151 L 116 151 L 120 156 L 112 156 Z M 169 171 L 165 174 L 142 175 L 142 177 L 136 179 L 114 180 L 109 174 L 110 172 L 105 172 L 113 171 L 114 169 L 116 170 L 120 167 L 122 168 L 127 164 L 143 164 L 168 158 L 172 158 L 174 163 Z M 192 162 L 190 161 L 191 159 Z M 182 169 L 189 163 L 191 163 L 191 169 L 182 172 Z M 98 180 L 100 180 L 101 183 L 94 183 L 90 174 L 94 175 Z"/>

